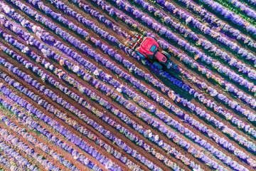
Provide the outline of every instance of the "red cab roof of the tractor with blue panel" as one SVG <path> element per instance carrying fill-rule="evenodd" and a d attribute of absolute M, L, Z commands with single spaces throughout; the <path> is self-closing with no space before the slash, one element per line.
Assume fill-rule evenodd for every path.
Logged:
<path fill-rule="evenodd" d="M 156 48 L 159 47 L 159 44 L 154 40 L 154 38 L 146 37 L 140 46 L 141 50 L 149 55 L 153 55 Z"/>

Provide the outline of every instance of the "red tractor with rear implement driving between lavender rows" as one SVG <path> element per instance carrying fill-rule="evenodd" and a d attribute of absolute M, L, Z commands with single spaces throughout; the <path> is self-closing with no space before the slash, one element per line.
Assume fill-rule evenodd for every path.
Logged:
<path fill-rule="evenodd" d="M 174 63 L 170 60 L 171 56 L 166 51 L 159 52 L 159 44 L 154 38 L 144 37 L 134 34 L 132 42 L 129 42 L 129 48 L 135 51 L 141 58 L 149 58 L 149 61 L 159 69 L 174 67 Z"/>

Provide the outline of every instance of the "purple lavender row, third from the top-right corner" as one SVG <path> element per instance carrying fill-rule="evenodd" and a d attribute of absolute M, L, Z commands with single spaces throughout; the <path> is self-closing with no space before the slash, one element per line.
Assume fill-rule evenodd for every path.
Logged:
<path fill-rule="evenodd" d="M 229 36 L 232 36 L 237 41 L 242 41 L 242 43 L 245 43 L 247 46 L 250 46 L 250 48 L 256 48 L 256 42 L 253 41 L 252 38 L 250 38 L 249 36 L 245 36 L 238 29 L 235 29 L 229 24 L 225 23 L 224 21 L 221 21 L 220 19 L 218 19 L 218 17 L 213 16 L 213 14 L 208 13 L 208 11 L 206 11 L 206 9 L 203 9 L 203 7 L 201 7 L 200 5 L 194 3 L 193 1 L 187 1 L 187 0 L 178 0 L 178 1 L 184 4 L 184 6 L 186 6 L 187 9 L 201 16 L 201 18 L 207 21 L 209 24 L 213 24 L 215 26 L 220 27 L 222 31 L 224 31 L 225 33 L 228 33 Z M 243 54 L 245 53 L 242 53 L 242 56 Z M 250 59 L 248 57 L 247 59 Z M 238 63 L 238 65 L 240 66 L 240 63 Z M 242 70 L 242 66 L 240 67 L 241 67 L 240 70 Z"/>

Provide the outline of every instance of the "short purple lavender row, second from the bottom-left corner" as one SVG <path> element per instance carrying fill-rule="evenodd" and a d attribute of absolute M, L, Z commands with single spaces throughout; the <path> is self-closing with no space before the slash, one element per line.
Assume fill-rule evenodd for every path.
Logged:
<path fill-rule="evenodd" d="M 1 130 L 0 130 L 0 134 L 1 134 Z M 16 145 L 16 144 L 14 144 Z M 20 147 L 19 145 L 17 145 L 17 147 Z M 0 149 L 7 155 L 11 156 L 12 158 L 14 158 L 17 162 L 18 165 L 22 165 L 23 167 L 27 167 L 29 170 L 31 171 L 39 171 L 39 169 L 37 167 L 35 167 L 34 165 L 32 165 L 30 162 L 28 162 L 28 160 L 26 160 L 26 158 L 24 158 L 23 156 L 21 156 L 18 152 L 16 152 L 15 150 L 13 150 L 9 145 L 6 145 L 6 143 L 4 143 L 3 141 L 0 140 Z M 34 155 L 35 157 L 37 157 L 36 155 Z M 15 167 L 13 167 L 15 169 Z"/>

